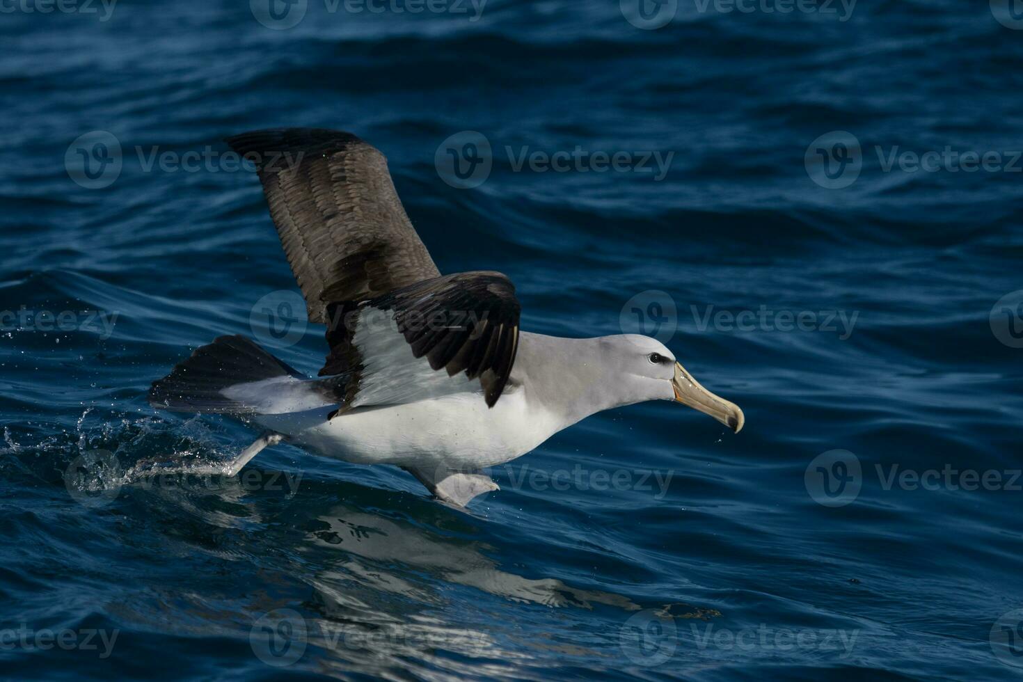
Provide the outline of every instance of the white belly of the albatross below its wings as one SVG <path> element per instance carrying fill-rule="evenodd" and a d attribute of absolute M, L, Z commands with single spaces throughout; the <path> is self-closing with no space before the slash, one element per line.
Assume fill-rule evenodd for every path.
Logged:
<path fill-rule="evenodd" d="M 350 462 L 483 467 L 520 457 L 562 428 L 546 410 L 530 409 L 525 394 L 507 392 L 493 408 L 479 393 L 458 393 L 357 408 L 329 421 L 332 407 L 255 419 L 296 445 Z"/>

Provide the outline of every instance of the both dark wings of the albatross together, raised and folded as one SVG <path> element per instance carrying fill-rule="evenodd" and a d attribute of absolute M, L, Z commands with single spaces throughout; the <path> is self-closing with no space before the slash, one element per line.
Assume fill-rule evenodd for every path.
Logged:
<path fill-rule="evenodd" d="M 259 130 L 227 142 L 256 164 L 309 319 L 327 325 L 330 353 L 319 373 L 344 375 L 327 387 L 343 411 L 464 390 L 466 379 L 478 379 L 494 406 L 518 349 L 515 286 L 496 272 L 441 276 L 384 154 L 351 133 L 315 128 Z M 395 331 L 407 350 L 387 336 Z M 465 379 L 439 385 L 443 374 L 430 372 L 442 369 Z"/>

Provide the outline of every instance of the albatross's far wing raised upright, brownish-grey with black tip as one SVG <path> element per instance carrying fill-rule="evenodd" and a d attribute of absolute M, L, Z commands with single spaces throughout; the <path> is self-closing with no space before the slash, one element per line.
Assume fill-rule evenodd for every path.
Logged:
<path fill-rule="evenodd" d="M 256 164 L 310 321 L 326 324 L 329 302 L 374 299 L 440 275 L 384 154 L 355 135 L 281 128 L 227 143 Z"/>

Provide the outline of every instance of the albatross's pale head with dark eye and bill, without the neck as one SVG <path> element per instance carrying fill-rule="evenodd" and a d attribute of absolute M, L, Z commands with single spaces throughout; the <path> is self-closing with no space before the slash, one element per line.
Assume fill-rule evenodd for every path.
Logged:
<path fill-rule="evenodd" d="M 640 334 L 599 340 L 604 362 L 613 368 L 610 380 L 626 397 L 622 404 L 671 400 L 709 414 L 737 434 L 743 427 L 746 417 L 739 406 L 700 385 L 661 342 Z"/>

